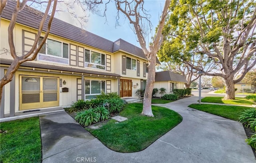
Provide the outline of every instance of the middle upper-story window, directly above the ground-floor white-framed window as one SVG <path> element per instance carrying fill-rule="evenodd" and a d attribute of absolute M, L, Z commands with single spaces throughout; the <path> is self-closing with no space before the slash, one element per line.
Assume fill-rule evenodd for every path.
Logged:
<path fill-rule="evenodd" d="M 93 52 L 90 50 L 85 50 L 84 52 L 85 67 L 98 68 L 98 69 L 105 70 L 106 68 L 105 57 L 106 57 L 105 54 Z"/>

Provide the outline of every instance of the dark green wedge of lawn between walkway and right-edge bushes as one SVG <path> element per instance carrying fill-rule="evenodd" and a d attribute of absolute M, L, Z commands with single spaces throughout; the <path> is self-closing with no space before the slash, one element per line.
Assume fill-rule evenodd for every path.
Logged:
<path fill-rule="evenodd" d="M 238 121 L 241 115 L 241 111 L 249 109 L 250 107 L 245 106 L 227 106 L 227 105 L 212 105 L 212 104 L 191 104 L 188 107 L 211 113 L 234 121 Z"/>

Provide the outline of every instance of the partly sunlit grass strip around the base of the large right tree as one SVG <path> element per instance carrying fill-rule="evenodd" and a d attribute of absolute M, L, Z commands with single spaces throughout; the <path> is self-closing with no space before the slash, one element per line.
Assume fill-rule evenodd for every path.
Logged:
<path fill-rule="evenodd" d="M 254 102 L 244 99 L 242 97 L 236 97 L 236 99 L 223 99 L 223 97 L 204 97 L 201 99 L 202 102 L 211 102 L 211 103 L 226 103 L 233 105 L 253 105 Z"/>

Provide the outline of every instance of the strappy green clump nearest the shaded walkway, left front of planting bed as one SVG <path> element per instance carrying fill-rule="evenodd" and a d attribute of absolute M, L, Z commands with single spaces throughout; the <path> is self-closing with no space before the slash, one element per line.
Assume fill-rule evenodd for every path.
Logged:
<path fill-rule="evenodd" d="M 82 126 L 89 126 L 92 123 L 100 121 L 100 114 L 95 109 L 88 109 L 79 111 L 75 117 L 75 120 Z"/>

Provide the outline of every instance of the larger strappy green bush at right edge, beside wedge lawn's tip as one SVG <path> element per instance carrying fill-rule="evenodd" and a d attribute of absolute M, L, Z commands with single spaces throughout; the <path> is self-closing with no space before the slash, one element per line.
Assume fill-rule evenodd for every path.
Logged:
<path fill-rule="evenodd" d="M 243 123 L 246 127 L 250 127 L 252 131 L 255 132 L 256 123 L 254 121 L 256 121 L 256 109 L 255 108 L 246 109 L 241 113 L 242 114 L 239 117 L 239 121 Z"/>

